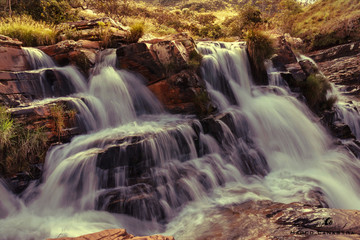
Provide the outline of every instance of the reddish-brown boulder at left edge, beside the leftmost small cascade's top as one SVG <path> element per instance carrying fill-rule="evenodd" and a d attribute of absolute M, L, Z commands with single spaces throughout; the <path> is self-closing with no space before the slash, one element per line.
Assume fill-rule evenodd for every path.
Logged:
<path fill-rule="evenodd" d="M 22 42 L 0 35 L 0 71 L 30 70 Z"/>

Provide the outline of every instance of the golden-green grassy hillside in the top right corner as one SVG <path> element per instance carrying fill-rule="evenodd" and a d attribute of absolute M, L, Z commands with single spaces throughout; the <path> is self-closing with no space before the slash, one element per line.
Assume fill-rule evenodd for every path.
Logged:
<path fill-rule="evenodd" d="M 320 49 L 360 38 L 360 2 L 319 0 L 304 8 L 294 21 L 292 34 L 312 49 Z"/>

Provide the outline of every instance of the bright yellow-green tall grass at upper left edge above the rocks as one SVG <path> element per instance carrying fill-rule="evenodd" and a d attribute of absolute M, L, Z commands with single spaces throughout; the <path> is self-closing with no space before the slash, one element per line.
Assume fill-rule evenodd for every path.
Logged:
<path fill-rule="evenodd" d="M 17 38 L 23 42 L 24 46 L 53 44 L 56 39 L 56 30 L 53 25 L 35 21 L 26 15 L 2 18 L 0 34 Z"/>

